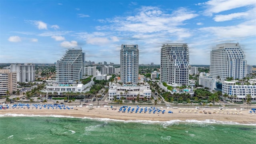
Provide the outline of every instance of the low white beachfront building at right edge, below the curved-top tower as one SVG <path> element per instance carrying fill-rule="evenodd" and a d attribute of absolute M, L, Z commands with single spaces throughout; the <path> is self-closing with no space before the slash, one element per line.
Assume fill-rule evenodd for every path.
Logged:
<path fill-rule="evenodd" d="M 236 81 L 223 81 L 222 95 L 225 93 L 234 100 L 244 100 L 244 102 L 246 101 L 246 95 L 250 94 L 252 102 L 256 102 L 256 85 L 237 84 Z"/>

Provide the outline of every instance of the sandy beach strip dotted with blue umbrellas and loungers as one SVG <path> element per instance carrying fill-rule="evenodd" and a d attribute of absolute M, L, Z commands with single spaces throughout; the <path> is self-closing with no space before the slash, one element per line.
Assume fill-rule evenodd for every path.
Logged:
<path fill-rule="evenodd" d="M 116 110 L 113 108 L 94 107 L 89 109 L 86 106 L 75 106 L 73 109 L 36 109 L 36 108 L 8 108 L 0 110 L 0 114 L 24 114 L 24 115 L 40 115 L 40 116 L 72 116 L 78 118 L 109 118 L 114 120 L 151 120 L 151 121 L 170 121 L 170 120 L 217 120 L 225 122 L 238 122 L 240 124 L 256 124 L 256 114 L 248 113 L 248 110 L 235 110 L 235 109 L 188 109 L 188 108 L 160 108 L 165 110 L 162 112 L 149 113 L 142 111 L 137 112 L 118 112 L 120 107 Z M 133 108 L 133 107 L 132 107 Z M 136 107 L 135 107 L 136 109 Z M 173 113 L 168 113 L 172 111 Z M 204 112 L 207 112 L 204 113 Z M 209 114 L 211 112 L 211 114 Z"/>

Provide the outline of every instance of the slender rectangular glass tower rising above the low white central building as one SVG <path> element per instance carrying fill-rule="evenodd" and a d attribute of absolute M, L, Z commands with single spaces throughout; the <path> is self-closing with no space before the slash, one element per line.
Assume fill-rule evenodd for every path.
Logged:
<path fill-rule="evenodd" d="M 120 50 L 120 70 L 120 77 L 123 83 L 138 83 L 139 49 L 137 44 L 122 44 Z"/>

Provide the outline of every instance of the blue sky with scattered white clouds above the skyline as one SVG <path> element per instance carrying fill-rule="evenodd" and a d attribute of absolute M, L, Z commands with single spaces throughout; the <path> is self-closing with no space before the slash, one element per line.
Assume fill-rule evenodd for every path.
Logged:
<path fill-rule="evenodd" d="M 160 64 L 165 43 L 187 43 L 190 64 L 210 64 L 216 44 L 239 42 L 256 65 L 256 0 L 0 1 L 0 63 L 54 63 L 68 48 L 120 64 L 138 44 L 140 64 Z"/>

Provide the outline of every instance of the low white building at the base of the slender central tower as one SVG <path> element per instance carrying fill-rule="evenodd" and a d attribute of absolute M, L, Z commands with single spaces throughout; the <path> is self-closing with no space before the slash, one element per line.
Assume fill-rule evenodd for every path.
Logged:
<path fill-rule="evenodd" d="M 135 85 L 135 84 L 124 84 L 111 83 L 109 82 L 108 89 L 108 100 L 112 101 L 115 98 L 121 100 L 122 97 L 127 100 L 137 99 L 139 96 L 140 100 L 146 98 L 149 100 L 152 96 L 149 84 Z"/>

